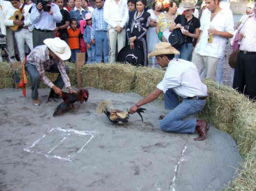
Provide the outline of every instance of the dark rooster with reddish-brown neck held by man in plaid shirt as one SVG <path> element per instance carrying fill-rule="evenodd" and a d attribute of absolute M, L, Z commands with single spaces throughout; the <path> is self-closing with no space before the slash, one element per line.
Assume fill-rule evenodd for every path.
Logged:
<path fill-rule="evenodd" d="M 78 90 L 77 93 L 66 93 L 62 91 L 62 96 L 57 96 L 56 93 L 54 93 L 53 89 L 51 89 L 51 92 L 49 94 L 49 98 L 62 98 L 64 102 L 62 102 L 60 105 L 57 106 L 55 109 L 53 116 L 61 115 L 64 112 L 70 110 L 73 106 L 73 103 L 75 102 L 86 102 L 89 97 L 88 89 L 81 88 Z M 48 98 L 47 102 L 50 102 Z M 54 100 L 55 101 L 55 100 Z"/>

